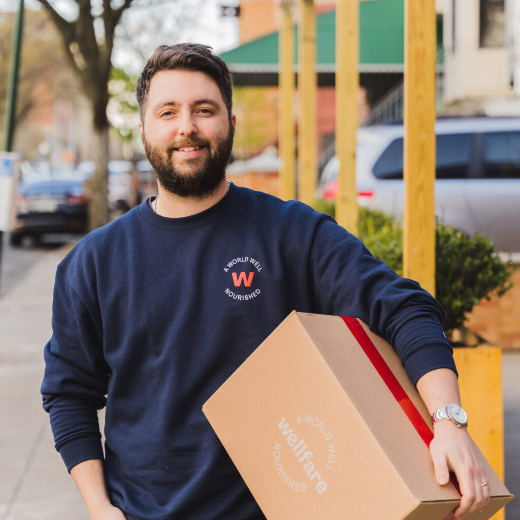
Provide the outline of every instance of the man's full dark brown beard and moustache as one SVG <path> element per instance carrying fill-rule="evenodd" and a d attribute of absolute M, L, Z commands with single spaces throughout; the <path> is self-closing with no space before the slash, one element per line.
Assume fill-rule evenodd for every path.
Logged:
<path fill-rule="evenodd" d="M 162 149 L 151 145 L 145 135 L 142 144 L 161 186 L 178 197 L 203 199 L 210 196 L 222 183 L 226 165 L 233 147 L 233 127 L 229 125 L 227 136 L 219 137 L 212 150 L 210 141 L 190 139 Z M 176 148 L 204 146 L 203 157 L 184 159 L 182 166 L 174 164 Z"/>

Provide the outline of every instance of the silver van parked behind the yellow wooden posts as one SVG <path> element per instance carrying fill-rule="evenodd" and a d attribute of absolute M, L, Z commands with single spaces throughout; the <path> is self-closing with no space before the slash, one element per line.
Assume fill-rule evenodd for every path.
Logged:
<path fill-rule="evenodd" d="M 520 118 L 439 119 L 436 133 L 435 214 L 446 225 L 489 236 L 498 249 L 520 252 Z M 402 218 L 401 124 L 357 133 L 360 205 Z M 334 200 L 339 161 L 323 170 L 317 196 Z"/>

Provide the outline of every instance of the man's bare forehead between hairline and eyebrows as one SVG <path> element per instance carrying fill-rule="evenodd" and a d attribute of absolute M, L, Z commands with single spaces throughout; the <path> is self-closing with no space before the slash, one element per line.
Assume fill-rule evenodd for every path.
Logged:
<path fill-rule="evenodd" d="M 204 72 L 162 70 L 153 75 L 148 90 L 148 105 L 161 103 L 190 104 L 199 99 L 211 99 L 225 106 L 216 82 Z"/>

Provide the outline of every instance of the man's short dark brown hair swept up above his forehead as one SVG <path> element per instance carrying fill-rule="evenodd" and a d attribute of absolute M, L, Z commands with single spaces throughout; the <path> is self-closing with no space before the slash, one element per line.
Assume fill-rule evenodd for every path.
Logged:
<path fill-rule="evenodd" d="M 190 70 L 209 75 L 218 85 L 220 94 L 226 103 L 228 115 L 231 117 L 233 91 L 231 74 L 226 63 L 208 45 L 178 43 L 161 45 L 155 49 L 137 80 L 137 104 L 141 121 L 144 120 L 150 81 L 155 74 L 162 70 Z"/>

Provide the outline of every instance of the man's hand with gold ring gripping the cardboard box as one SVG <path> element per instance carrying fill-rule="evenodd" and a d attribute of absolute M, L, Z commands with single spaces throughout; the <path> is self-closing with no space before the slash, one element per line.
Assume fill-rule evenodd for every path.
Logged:
<path fill-rule="evenodd" d="M 466 427 L 458 427 L 444 419 L 435 424 L 434 438 L 430 444 L 430 455 L 435 468 L 437 482 L 444 486 L 449 482 L 452 471 L 461 491 L 459 507 L 453 512 L 457 518 L 466 518 L 482 511 L 489 502 L 489 486 L 479 451 Z"/>

